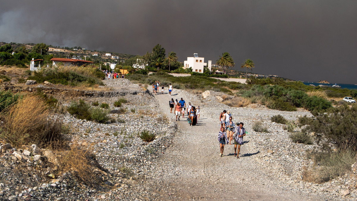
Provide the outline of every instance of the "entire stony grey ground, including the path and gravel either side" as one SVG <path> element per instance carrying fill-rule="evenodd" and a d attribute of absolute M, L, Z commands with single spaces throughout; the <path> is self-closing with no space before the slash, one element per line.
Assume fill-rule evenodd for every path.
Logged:
<path fill-rule="evenodd" d="M 304 157 L 305 150 L 313 145 L 291 142 L 283 125 L 270 121 L 273 115 L 296 120 L 300 115 L 311 115 L 310 112 L 277 111 L 259 105 L 231 108 L 218 101 L 215 96 L 222 93 L 214 91 L 205 99 L 184 90 L 174 90 L 173 96 L 167 91 L 154 96 L 127 79 L 106 80 L 105 84 L 115 93 L 79 93 L 75 98 L 107 102 L 115 109 L 113 102 L 124 97 L 128 102 L 122 107 L 127 112 L 110 114 L 116 122 L 98 124 L 69 114 L 62 116 L 73 131 L 73 143 L 94 150 L 96 174 L 103 184 L 87 186 L 71 172 L 49 178 L 55 171 L 46 167 L 42 157 L 49 159 L 51 153 L 34 147 L 16 150 L 3 145 L 1 200 L 357 199 L 353 174 L 324 184 L 303 181 L 303 167 L 313 165 Z M 181 97 L 186 103 L 200 106 L 196 126 L 189 126 L 185 119 L 176 122 L 170 113 L 168 101 Z M 241 146 L 240 159 L 233 157 L 233 145 L 226 145 L 224 156 L 219 156 L 218 115 L 223 109 L 230 110 L 234 122 L 244 122 L 249 132 Z M 258 120 L 269 132 L 252 130 Z M 143 142 L 137 137 L 142 130 L 155 132 L 157 139 Z"/>

